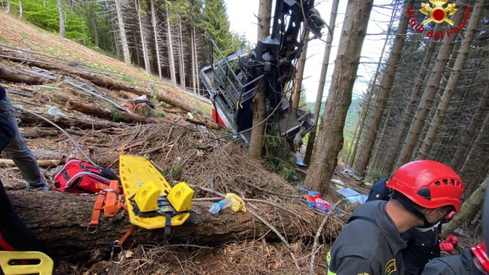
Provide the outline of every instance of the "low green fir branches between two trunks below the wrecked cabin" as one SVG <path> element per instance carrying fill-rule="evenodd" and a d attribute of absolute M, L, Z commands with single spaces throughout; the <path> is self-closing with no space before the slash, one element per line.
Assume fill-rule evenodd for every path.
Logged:
<path fill-rule="evenodd" d="M 295 180 L 295 156 L 284 137 L 272 131 L 270 135 L 265 135 L 263 144 L 265 145 L 265 156 L 263 156 L 265 165 L 287 181 Z"/>

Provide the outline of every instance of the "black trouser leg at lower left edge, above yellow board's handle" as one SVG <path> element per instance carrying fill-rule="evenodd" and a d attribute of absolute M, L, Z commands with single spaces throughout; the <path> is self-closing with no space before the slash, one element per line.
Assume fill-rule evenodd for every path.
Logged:
<path fill-rule="evenodd" d="M 22 223 L 0 181 L 0 246 L 5 250 L 42 251 L 41 242 Z"/>

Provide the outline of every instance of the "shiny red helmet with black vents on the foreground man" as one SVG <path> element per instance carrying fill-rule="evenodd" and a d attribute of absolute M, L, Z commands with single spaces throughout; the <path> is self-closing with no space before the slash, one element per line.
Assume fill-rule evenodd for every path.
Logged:
<path fill-rule="evenodd" d="M 451 205 L 457 212 L 462 207 L 462 180 L 451 168 L 437 161 L 406 163 L 394 172 L 386 186 L 421 207 Z"/>

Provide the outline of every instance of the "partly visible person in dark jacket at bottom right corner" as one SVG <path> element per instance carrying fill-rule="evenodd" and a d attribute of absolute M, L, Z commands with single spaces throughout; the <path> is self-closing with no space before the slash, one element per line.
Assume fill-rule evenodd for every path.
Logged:
<path fill-rule="evenodd" d="M 489 274 L 489 259 L 486 242 L 464 247 L 460 255 L 432 260 L 426 265 L 423 275 L 483 275 Z"/>

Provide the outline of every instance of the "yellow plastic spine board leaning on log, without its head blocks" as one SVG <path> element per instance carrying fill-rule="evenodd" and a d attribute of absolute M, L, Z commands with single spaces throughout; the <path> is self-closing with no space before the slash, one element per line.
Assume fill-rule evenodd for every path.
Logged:
<path fill-rule="evenodd" d="M 132 195 L 136 194 L 140 186 L 152 181 L 161 190 L 161 195 L 168 196 L 172 190 L 165 177 L 154 168 L 146 159 L 140 156 L 119 156 L 119 175 L 121 178 L 122 189 L 124 190 L 125 200 L 129 212 L 129 221 L 142 228 L 155 229 L 165 227 L 165 216 L 140 217 L 136 216 L 132 210 L 132 202 L 129 201 Z M 193 193 L 192 193 L 193 195 Z M 171 218 L 171 225 L 182 225 L 189 218 L 189 213 L 178 214 Z"/>

